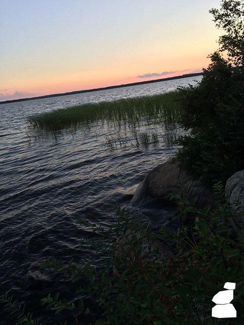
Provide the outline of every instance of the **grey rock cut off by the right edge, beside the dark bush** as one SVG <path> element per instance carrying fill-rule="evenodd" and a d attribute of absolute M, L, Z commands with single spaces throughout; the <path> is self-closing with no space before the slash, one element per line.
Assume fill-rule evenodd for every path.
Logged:
<path fill-rule="evenodd" d="M 234 173 L 225 184 L 225 199 L 231 205 L 231 213 L 244 222 L 244 170 Z M 239 201 L 241 209 L 236 210 L 235 201 Z"/>

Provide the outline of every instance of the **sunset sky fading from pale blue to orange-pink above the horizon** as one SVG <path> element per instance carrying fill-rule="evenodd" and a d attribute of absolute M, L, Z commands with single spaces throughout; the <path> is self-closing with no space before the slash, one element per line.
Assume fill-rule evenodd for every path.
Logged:
<path fill-rule="evenodd" d="M 0 0 L 0 101 L 201 72 L 220 0 Z"/>

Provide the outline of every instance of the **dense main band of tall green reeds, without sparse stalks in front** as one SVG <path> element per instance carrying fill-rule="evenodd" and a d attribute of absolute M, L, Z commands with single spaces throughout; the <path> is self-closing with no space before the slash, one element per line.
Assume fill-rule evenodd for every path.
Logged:
<path fill-rule="evenodd" d="M 177 92 L 174 91 L 111 102 L 83 104 L 28 116 L 26 122 L 29 127 L 42 132 L 89 129 L 91 124 L 98 122 L 114 127 L 127 124 L 130 128 L 140 126 L 142 121 L 153 124 L 174 123 L 180 114 L 175 102 L 176 96 Z"/>

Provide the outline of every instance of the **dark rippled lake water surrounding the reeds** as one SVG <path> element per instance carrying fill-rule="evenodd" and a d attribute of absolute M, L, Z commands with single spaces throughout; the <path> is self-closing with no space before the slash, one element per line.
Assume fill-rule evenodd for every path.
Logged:
<path fill-rule="evenodd" d="M 80 238 L 93 234 L 78 225 L 78 219 L 86 217 L 108 228 L 116 218 L 110 206 L 120 204 L 138 220 L 150 220 L 153 227 L 168 222 L 160 206 L 132 207 L 130 200 L 148 172 L 168 160 L 176 146 L 109 149 L 104 141 L 109 132 L 106 125 L 90 134 L 78 131 L 74 138 L 67 133 L 58 140 L 30 141 L 25 117 L 76 104 L 164 93 L 201 78 L 0 105 L 1 294 L 9 292 L 26 301 L 34 309 L 33 317 L 52 324 L 52 313 L 41 316 L 39 300 L 52 290 L 69 297 L 70 284 L 47 271 L 41 271 L 41 283 L 31 284 L 28 274 L 53 255 L 64 262 L 75 256 L 78 263 L 99 264 L 101 257 L 79 245 Z M 86 302 L 92 304 L 88 298 Z M 14 323 L 11 317 L 0 308 L 1 324 Z"/>

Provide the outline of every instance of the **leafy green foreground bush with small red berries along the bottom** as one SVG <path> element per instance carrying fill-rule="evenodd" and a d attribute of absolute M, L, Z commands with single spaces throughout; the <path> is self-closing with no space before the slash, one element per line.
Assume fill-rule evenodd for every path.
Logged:
<path fill-rule="evenodd" d="M 72 302 L 59 300 L 58 294 L 49 294 L 42 303 L 55 313 L 67 308 L 74 311 L 73 323 L 81 323 L 82 314 L 91 313 L 84 306 L 83 297 L 95 294 L 104 311 L 97 317 L 95 323 L 98 325 L 212 324 L 221 323 L 221 319 L 211 317 L 211 308 L 215 305 L 211 302 L 213 296 L 223 289 L 225 282 L 235 282 L 232 303 L 237 318 L 230 319 L 229 323 L 243 323 L 244 236 L 233 234 L 232 215 L 229 204 L 224 201 L 223 185 L 215 184 L 213 191 L 215 206 L 212 212 L 210 206 L 197 210 L 194 207 L 196 199 L 190 203 L 184 193 L 175 192 L 172 199 L 176 200 L 181 215 L 187 216 L 191 212 L 196 216 L 193 227 L 188 229 L 183 222 L 177 234 L 164 227 L 153 232 L 117 207 L 117 219 L 103 240 L 86 242 L 107 256 L 104 265 L 96 269 L 89 263 L 77 266 L 73 259 L 67 266 L 55 261 L 54 257 L 46 261 L 43 268 L 70 273 L 71 281 L 80 287 L 76 292 L 77 299 Z M 84 223 L 93 227 L 94 232 L 101 231 L 100 227 Z M 237 227 L 242 226 L 237 224 Z M 119 238 L 117 242 L 116 238 Z M 147 243 L 147 249 L 142 248 L 143 242 Z M 114 258 L 118 246 L 124 254 Z M 112 276 L 114 265 L 120 266 L 117 278 Z M 84 285 L 87 280 L 88 285 Z M 2 302 L 19 315 L 18 324 L 37 324 L 34 320 L 31 322 L 31 315 L 24 316 L 21 306 L 15 308 L 8 295 Z M 224 321 L 226 323 L 226 319 Z"/>

